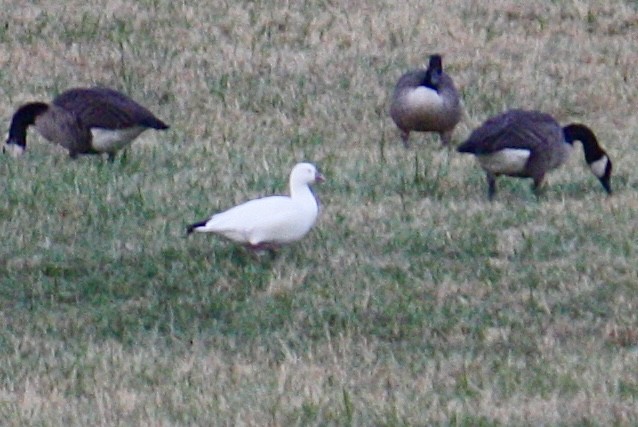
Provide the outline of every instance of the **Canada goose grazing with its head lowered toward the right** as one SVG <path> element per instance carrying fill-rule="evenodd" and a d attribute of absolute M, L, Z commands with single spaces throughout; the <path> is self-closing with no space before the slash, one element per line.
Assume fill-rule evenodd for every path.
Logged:
<path fill-rule="evenodd" d="M 458 147 L 476 156 L 487 174 L 488 196 L 496 193 L 496 177 L 532 178 L 540 189 L 545 173 L 569 157 L 574 141 L 580 141 L 592 173 L 611 194 L 611 160 L 587 126 L 573 123 L 561 128 L 549 114 L 509 110 L 488 119 Z"/>

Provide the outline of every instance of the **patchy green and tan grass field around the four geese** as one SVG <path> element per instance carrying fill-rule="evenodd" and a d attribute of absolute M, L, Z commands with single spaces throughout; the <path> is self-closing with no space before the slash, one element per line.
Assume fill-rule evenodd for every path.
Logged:
<path fill-rule="evenodd" d="M 0 117 L 73 86 L 171 125 L 114 163 L 0 156 L 3 425 L 638 424 L 638 2 L 7 0 Z M 454 144 L 507 108 L 591 126 L 540 198 L 388 115 L 430 53 Z M 256 259 L 185 226 L 286 191 L 322 212 Z"/>

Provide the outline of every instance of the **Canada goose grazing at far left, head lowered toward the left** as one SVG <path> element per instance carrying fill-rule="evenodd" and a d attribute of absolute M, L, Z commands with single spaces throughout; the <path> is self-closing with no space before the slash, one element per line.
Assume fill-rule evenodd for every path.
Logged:
<path fill-rule="evenodd" d="M 104 87 L 70 89 L 50 104 L 22 105 L 11 119 L 5 148 L 22 154 L 31 125 L 47 140 L 66 148 L 72 158 L 108 153 L 109 160 L 146 129 L 168 129 L 137 102 Z"/>

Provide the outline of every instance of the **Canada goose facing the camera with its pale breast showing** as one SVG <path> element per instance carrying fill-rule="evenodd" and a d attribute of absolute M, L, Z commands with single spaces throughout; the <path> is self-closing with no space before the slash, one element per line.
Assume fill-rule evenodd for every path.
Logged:
<path fill-rule="evenodd" d="M 401 76 L 394 89 L 390 116 L 409 147 L 410 132 L 438 132 L 443 145 L 461 120 L 461 102 L 452 78 L 443 72 L 441 55 L 431 55 L 428 68 Z"/>

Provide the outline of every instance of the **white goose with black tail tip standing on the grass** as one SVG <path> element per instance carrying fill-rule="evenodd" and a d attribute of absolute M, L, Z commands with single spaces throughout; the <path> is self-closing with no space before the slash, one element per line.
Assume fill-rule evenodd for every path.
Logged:
<path fill-rule="evenodd" d="M 290 173 L 290 196 L 250 200 L 188 226 L 187 233 L 216 233 L 254 250 L 294 242 L 317 220 L 319 206 L 309 185 L 323 181 L 314 165 L 298 163 Z"/>

